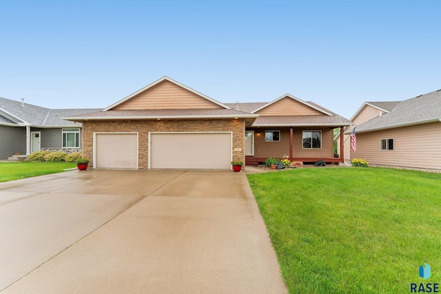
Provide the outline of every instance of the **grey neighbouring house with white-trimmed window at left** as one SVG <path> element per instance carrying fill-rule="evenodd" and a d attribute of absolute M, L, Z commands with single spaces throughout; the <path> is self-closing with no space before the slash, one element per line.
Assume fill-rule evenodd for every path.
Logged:
<path fill-rule="evenodd" d="M 62 120 L 100 109 L 48 109 L 0 98 L 0 160 L 41 149 L 81 150 L 81 123 Z"/>

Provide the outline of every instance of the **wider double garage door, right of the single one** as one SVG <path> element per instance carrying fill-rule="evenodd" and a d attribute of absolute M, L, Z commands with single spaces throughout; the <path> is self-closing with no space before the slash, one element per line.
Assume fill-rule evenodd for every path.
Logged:
<path fill-rule="evenodd" d="M 231 133 L 151 134 L 152 169 L 231 169 Z"/>

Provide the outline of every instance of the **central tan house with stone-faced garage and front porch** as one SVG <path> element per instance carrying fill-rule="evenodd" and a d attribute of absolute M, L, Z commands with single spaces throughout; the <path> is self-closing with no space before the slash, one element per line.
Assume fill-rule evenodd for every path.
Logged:
<path fill-rule="evenodd" d="M 333 157 L 333 129 L 351 122 L 289 94 L 270 103 L 223 104 L 167 76 L 83 123 L 94 168 L 231 169 L 232 160 L 314 162 Z"/>

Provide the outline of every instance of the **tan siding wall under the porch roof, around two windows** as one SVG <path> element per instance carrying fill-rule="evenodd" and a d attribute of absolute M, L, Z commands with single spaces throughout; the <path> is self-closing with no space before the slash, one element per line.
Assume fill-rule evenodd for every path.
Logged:
<path fill-rule="evenodd" d="M 302 132 L 322 131 L 321 149 L 303 149 Z M 280 142 L 265 142 L 265 131 L 280 131 Z M 314 129 L 293 129 L 293 156 L 294 157 L 322 157 L 332 158 L 334 156 L 333 130 L 329 128 Z M 274 127 L 271 129 L 254 129 L 254 156 L 258 158 L 289 156 L 289 128 Z"/>

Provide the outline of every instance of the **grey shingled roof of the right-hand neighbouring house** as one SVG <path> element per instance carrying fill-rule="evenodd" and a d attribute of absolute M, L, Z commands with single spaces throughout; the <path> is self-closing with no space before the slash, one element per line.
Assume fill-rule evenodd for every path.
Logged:
<path fill-rule="evenodd" d="M 356 128 L 356 132 L 431 123 L 441 119 L 441 90 L 399 102 L 391 112 L 373 118 Z"/>

